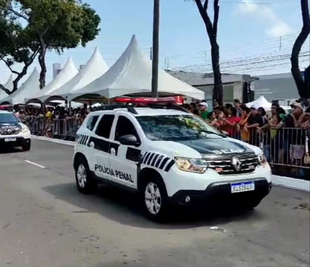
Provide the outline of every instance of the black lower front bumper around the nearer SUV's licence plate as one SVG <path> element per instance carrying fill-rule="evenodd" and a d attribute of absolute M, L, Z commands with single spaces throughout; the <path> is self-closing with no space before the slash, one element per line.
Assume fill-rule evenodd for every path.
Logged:
<path fill-rule="evenodd" d="M 203 204 L 206 208 L 231 205 L 246 206 L 247 203 L 261 201 L 272 188 L 272 183 L 262 177 L 253 180 L 255 183 L 254 191 L 231 193 L 231 184 L 247 181 L 249 180 L 214 182 L 209 184 L 205 190 L 179 190 L 170 197 L 170 201 L 174 205 L 181 206 Z M 186 197 L 189 197 L 190 201 L 186 202 Z"/>

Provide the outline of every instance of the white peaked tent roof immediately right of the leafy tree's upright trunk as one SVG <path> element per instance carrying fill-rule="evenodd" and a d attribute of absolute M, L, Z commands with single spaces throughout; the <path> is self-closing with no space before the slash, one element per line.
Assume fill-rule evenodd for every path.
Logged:
<path fill-rule="evenodd" d="M 29 98 L 25 99 L 25 103 L 29 104 L 41 103 L 41 101 L 44 102 L 48 98 L 46 95 L 51 94 L 53 91 L 57 90 L 59 87 L 71 80 L 76 74 L 78 74 L 78 69 L 74 65 L 71 57 L 69 57 L 60 73 L 57 74 L 56 77 L 50 83 L 48 83 L 46 87 L 40 90 L 40 92 L 36 92 L 28 96 Z"/>

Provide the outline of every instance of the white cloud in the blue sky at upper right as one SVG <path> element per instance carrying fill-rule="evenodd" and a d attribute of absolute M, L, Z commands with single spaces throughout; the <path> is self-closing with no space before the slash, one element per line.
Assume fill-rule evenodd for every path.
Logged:
<path fill-rule="evenodd" d="M 266 34 L 269 36 L 280 37 L 293 32 L 290 25 L 277 17 L 272 8 L 255 4 L 251 0 L 243 0 L 243 2 L 244 4 L 240 5 L 239 11 L 261 18 L 264 24 L 269 25 L 268 29 L 266 29 Z"/>

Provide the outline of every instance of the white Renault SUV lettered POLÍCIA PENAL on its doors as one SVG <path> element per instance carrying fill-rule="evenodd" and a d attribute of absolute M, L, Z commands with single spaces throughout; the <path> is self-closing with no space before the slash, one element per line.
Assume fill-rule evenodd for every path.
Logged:
<path fill-rule="evenodd" d="M 138 192 L 148 216 L 160 220 L 172 205 L 254 208 L 271 190 L 259 147 L 195 115 L 174 107 L 102 109 L 77 133 L 73 165 L 81 193 L 100 183 Z"/>

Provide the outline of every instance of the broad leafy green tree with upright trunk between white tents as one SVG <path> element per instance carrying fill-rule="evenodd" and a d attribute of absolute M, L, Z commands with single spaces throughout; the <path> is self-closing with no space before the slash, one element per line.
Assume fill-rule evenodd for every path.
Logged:
<path fill-rule="evenodd" d="M 27 23 L 29 35 L 39 45 L 41 67 L 40 88 L 45 86 L 46 53 L 83 47 L 99 34 L 100 17 L 80 0 L 0 0 L 6 1 L 6 11 Z"/>

